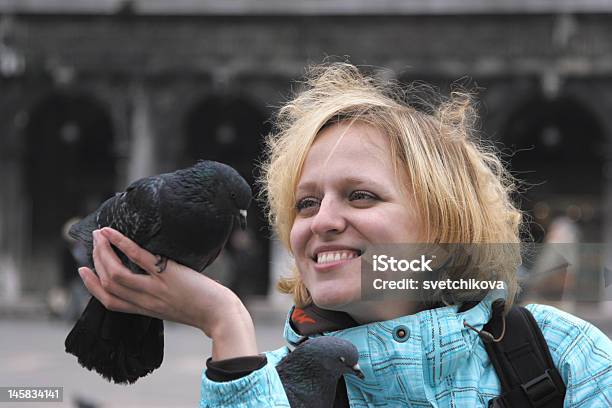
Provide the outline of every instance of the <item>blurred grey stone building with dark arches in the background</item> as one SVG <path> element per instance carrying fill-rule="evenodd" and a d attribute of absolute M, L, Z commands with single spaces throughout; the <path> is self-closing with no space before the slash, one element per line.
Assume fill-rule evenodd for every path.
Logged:
<path fill-rule="evenodd" d="M 252 182 L 266 120 L 326 56 L 471 78 L 523 208 L 612 242 L 610 39 L 607 0 L 0 0 L 0 297 L 54 285 L 63 223 L 133 179 L 207 158 Z M 261 295 L 276 258 L 250 217 Z"/>

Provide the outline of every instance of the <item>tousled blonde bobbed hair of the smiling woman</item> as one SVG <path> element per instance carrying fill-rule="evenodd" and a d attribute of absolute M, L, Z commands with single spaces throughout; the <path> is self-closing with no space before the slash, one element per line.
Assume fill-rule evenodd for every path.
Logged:
<path fill-rule="evenodd" d="M 519 243 L 522 213 L 510 199 L 515 180 L 496 150 L 477 140 L 471 95 L 453 92 L 447 100 L 421 103 L 416 109 L 406 102 L 415 90 L 362 74 L 348 63 L 308 70 L 304 89 L 275 117 L 259 179 L 269 222 L 290 252 L 295 188 L 306 155 L 325 126 L 342 121 L 369 124 L 389 137 L 394 170 L 409 177 L 410 185 L 405 187 L 414 197 L 428 242 Z M 490 279 L 486 271 L 495 268 L 497 279 L 505 282 L 509 307 L 518 290 L 518 245 L 494 248 L 480 254 L 480 265 L 486 268 L 464 271 L 464 275 Z M 292 269 L 292 275 L 281 278 L 277 287 L 292 294 L 296 305 L 304 306 L 311 298 L 297 267 Z M 460 303 L 474 296 L 466 291 L 449 300 L 439 292 L 431 301 Z"/>

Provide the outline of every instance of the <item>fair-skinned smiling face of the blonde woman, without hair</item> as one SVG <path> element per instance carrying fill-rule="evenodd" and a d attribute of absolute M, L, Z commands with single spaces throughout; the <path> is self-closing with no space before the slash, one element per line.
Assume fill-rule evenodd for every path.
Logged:
<path fill-rule="evenodd" d="M 376 128 L 339 123 L 317 136 L 296 188 L 290 234 L 302 280 L 317 306 L 345 311 L 358 321 L 384 318 L 372 314 L 389 305 L 366 306 L 360 300 L 359 255 L 372 244 L 421 239 L 416 209 L 401 185 L 410 191 L 407 176 L 395 176 L 389 141 Z"/>

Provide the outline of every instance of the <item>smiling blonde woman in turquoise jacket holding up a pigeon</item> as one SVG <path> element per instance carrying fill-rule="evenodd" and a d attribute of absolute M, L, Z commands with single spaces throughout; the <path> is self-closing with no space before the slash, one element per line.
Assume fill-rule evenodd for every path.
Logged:
<path fill-rule="evenodd" d="M 275 118 L 260 181 L 270 223 L 294 260 L 291 274 L 279 282 L 295 301 L 285 338 L 293 345 L 322 335 L 348 340 L 359 352 L 364 375 L 345 375 L 331 396 L 309 389 L 313 399 L 297 406 L 320 406 L 333 398 L 334 407 L 484 407 L 507 395 L 506 386 L 502 389 L 507 381 L 500 382 L 485 341 L 502 341 L 503 333 L 506 340 L 520 340 L 514 337 L 520 330 L 506 331 L 505 325 L 506 312 L 511 321 L 517 310 L 510 306 L 520 262 L 522 215 L 510 200 L 513 180 L 495 151 L 474 136 L 469 95 L 456 93 L 416 109 L 404 98 L 411 91 L 350 64 L 322 65 L 309 72 L 304 89 Z M 145 270 L 154 257 L 107 229 L 97 236 L 96 269 L 106 284 L 83 271 L 94 295 L 118 311 L 190 324 L 212 338 L 202 407 L 289 406 L 287 384 L 276 371 L 289 350 L 257 354 L 253 322 L 235 294 L 172 261 L 163 274 L 137 284 L 110 261 L 108 241 Z M 364 298 L 364 254 L 382 244 L 415 243 L 503 245 L 469 253 L 472 261 L 465 267 L 442 263 L 439 283 L 424 301 Z M 503 290 L 482 285 L 497 281 Z M 455 282 L 469 285 L 455 290 Z M 122 285 L 134 296 L 122 298 L 127 293 Z M 541 332 L 550 350 L 545 369 L 538 347 L 519 342 L 516 355 L 527 356 L 529 366 L 528 376 L 518 381 L 523 401 L 543 397 L 547 405 L 539 406 L 547 408 L 609 406 L 610 340 L 555 308 L 521 310 L 538 328 L 532 334 Z M 482 330 L 500 321 L 498 337 Z M 289 389 L 314 387 L 313 373 L 321 372 L 323 361 L 304 361 Z M 521 368 L 517 364 L 513 367 Z M 549 387 L 529 394 L 541 383 Z"/>

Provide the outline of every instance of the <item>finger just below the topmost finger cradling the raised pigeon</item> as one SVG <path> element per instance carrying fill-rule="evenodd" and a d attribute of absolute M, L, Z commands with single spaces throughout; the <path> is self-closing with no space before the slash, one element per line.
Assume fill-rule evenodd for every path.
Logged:
<path fill-rule="evenodd" d="M 116 293 L 115 289 L 121 285 L 132 290 L 147 292 L 155 295 L 156 282 L 149 275 L 132 273 L 119 259 L 115 251 L 111 248 L 110 242 L 99 231 L 94 231 L 94 251 L 93 258 L 96 271 L 100 275 L 102 283 L 107 286 L 107 290 Z M 112 285 L 117 283 L 119 285 Z M 118 294 L 118 293 L 116 293 Z"/>

